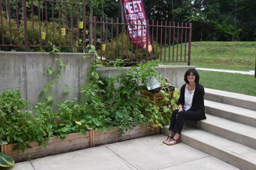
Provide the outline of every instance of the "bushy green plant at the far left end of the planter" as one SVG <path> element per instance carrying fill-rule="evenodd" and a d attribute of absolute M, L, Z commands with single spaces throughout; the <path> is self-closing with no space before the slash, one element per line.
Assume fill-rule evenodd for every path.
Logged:
<path fill-rule="evenodd" d="M 15 143 L 13 150 L 30 148 L 26 141 L 36 141 L 45 146 L 43 138 L 51 137 L 51 126 L 44 114 L 35 110 L 23 111 L 29 103 L 22 98 L 21 92 L 7 90 L 0 94 L 0 142 Z"/>

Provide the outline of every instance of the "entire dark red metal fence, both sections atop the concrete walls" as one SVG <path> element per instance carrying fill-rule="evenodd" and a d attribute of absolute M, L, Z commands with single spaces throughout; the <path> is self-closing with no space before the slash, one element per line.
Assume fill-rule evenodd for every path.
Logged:
<path fill-rule="evenodd" d="M 125 24 L 123 20 L 119 22 L 118 18 L 114 21 L 113 18 L 102 17 L 87 21 L 85 2 L 32 0 L 28 8 L 26 0 L 6 0 L 5 13 L 0 0 L 0 47 L 23 47 L 27 51 L 28 48 L 55 45 L 77 49 L 86 48 L 93 41 L 99 55 L 96 63 L 108 63 L 114 59 L 123 59 L 125 63 L 159 59 L 163 62 L 187 62 L 190 65 L 191 23 L 147 20 L 146 23 L 141 22 L 143 24 Z M 19 13 L 21 7 L 22 14 Z M 149 36 L 146 49 L 130 44 L 128 25 L 147 28 L 146 34 L 152 40 L 152 53 L 148 52 Z M 93 40 L 88 39 L 90 28 L 93 28 Z"/>

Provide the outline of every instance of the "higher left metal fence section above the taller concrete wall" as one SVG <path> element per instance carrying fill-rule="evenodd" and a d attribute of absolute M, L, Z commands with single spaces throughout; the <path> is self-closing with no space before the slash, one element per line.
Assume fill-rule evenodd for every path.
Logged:
<path fill-rule="evenodd" d="M 80 37 L 83 37 L 83 42 L 86 40 L 86 0 L 81 1 L 82 3 L 58 0 L 31 0 L 31 4 L 29 4 L 31 5 L 29 8 L 31 11 L 27 11 L 26 0 L 6 0 L 6 13 L 4 13 L 2 0 L 0 0 L 2 39 L 0 46 L 24 47 L 27 51 L 29 47 L 51 47 L 52 45 L 49 45 L 48 42 L 51 39 L 51 44 L 56 45 L 56 47 L 83 47 L 83 44 L 79 45 L 77 43 Z M 11 7 L 11 4 L 15 7 Z M 49 6 L 51 6 L 50 15 Z M 70 8 L 70 13 L 68 13 L 68 7 Z M 19 13 L 21 8 L 23 9 L 22 15 Z M 73 17 L 75 15 L 76 18 Z M 68 20 L 68 16 L 70 20 Z M 36 20 L 35 17 L 37 18 Z M 82 33 L 78 29 L 79 23 L 83 24 Z M 8 25 L 6 30 L 4 30 L 4 25 Z M 16 27 L 13 27 L 13 25 Z M 22 33 L 21 29 L 24 29 Z M 32 34 L 32 36 L 30 37 L 28 34 Z M 13 39 L 16 41 L 13 42 Z M 56 41 L 56 39 L 58 40 Z"/>

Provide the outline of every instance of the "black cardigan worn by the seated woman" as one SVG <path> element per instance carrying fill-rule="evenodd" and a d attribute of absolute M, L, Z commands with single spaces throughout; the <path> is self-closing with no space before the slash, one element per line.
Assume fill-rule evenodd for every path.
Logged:
<path fill-rule="evenodd" d="M 186 87 L 186 84 L 184 84 L 181 87 L 181 94 L 179 96 L 177 105 L 184 105 L 184 103 L 185 103 L 185 98 L 184 98 L 185 87 Z M 204 92 L 203 86 L 199 83 L 196 83 L 196 88 L 195 88 L 194 96 L 193 96 L 193 100 L 192 100 L 192 107 L 190 109 L 188 109 L 188 111 L 195 111 L 196 113 L 198 113 L 196 116 L 197 120 L 206 119 L 204 102 L 203 102 L 204 93 L 205 92 Z"/>

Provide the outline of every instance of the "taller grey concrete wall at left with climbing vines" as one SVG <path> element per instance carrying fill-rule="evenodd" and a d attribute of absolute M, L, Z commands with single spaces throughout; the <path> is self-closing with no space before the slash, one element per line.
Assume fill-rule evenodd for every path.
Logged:
<path fill-rule="evenodd" d="M 48 67 L 58 69 L 55 61 L 61 58 L 67 64 L 62 68 L 63 83 L 73 87 L 70 94 L 64 95 L 61 87 L 53 87 L 53 100 L 60 102 L 64 99 L 80 98 L 79 89 L 85 81 L 89 81 L 88 72 L 94 62 L 94 55 L 83 59 L 83 53 L 55 53 L 46 52 L 0 52 L 0 92 L 6 89 L 19 89 L 24 100 L 32 106 L 40 100 L 38 96 L 45 85 L 51 82 L 51 76 L 43 76 Z M 62 84 L 61 80 L 58 80 Z"/>

